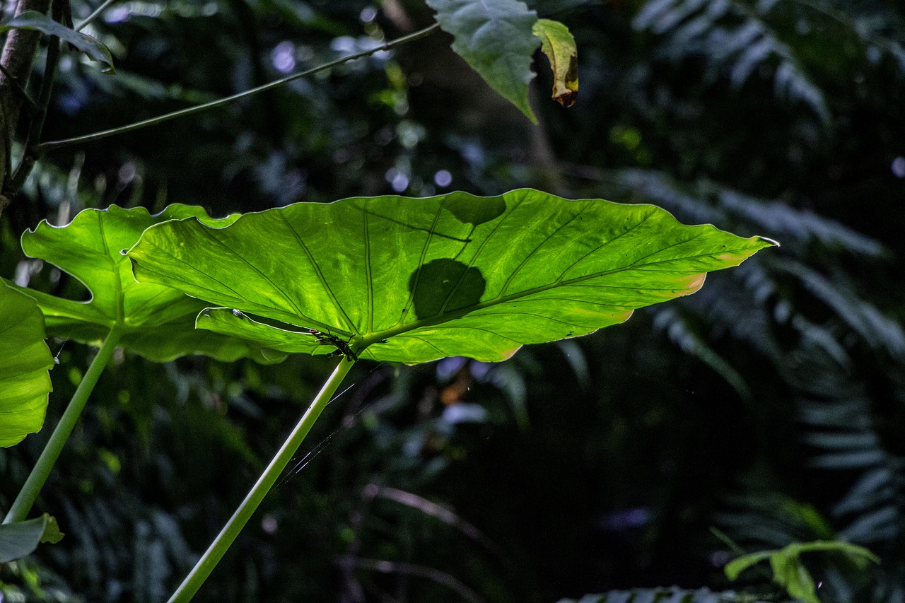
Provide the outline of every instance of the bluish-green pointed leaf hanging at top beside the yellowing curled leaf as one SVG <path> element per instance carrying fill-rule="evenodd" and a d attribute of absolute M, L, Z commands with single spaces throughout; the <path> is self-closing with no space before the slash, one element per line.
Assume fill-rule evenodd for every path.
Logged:
<path fill-rule="evenodd" d="M 540 40 L 531 33 L 538 14 L 517 0 L 427 0 L 437 23 L 452 34 L 452 50 L 475 72 L 538 123 L 528 102 L 531 58 Z"/>

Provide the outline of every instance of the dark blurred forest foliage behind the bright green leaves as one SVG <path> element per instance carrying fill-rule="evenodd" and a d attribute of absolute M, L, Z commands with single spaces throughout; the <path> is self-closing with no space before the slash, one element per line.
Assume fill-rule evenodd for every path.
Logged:
<path fill-rule="evenodd" d="M 73 3 L 77 17 L 93 7 Z M 552 601 L 671 585 L 783 600 L 768 575 L 726 581 L 728 541 L 843 539 L 882 563 L 814 557 L 823 600 L 905 601 L 902 5 L 534 7 L 576 35 L 581 81 L 575 107 L 548 101 L 538 54 L 537 128 L 436 34 L 54 152 L 0 219 L 0 274 L 71 295 L 78 284 L 25 258 L 18 236 L 114 203 L 225 214 L 538 187 L 782 244 L 680 302 L 506 363 L 358 367 L 196 600 Z M 415 0 L 119 2 L 90 25 L 118 75 L 65 57 L 45 138 L 242 91 L 431 18 Z M 52 349 L 49 425 L 89 353 Z M 5 598 L 166 600 L 328 371 L 117 356 L 40 502 L 67 537 L 0 566 Z M 48 431 L 0 451 L 0 508 Z"/>

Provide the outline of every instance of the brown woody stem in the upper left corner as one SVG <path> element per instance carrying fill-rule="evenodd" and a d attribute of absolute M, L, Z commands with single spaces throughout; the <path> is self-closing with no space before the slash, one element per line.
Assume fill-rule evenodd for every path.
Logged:
<path fill-rule="evenodd" d="M 37 11 L 47 14 L 50 10 L 51 0 L 19 0 L 15 14 L 24 11 Z M 7 166 L 10 164 L 8 157 L 9 148 L 12 146 L 15 136 L 16 124 L 19 121 L 19 112 L 22 110 L 22 90 L 28 84 L 28 76 L 32 72 L 34 53 L 38 49 L 41 40 L 41 32 L 33 32 L 24 29 L 10 30 L 6 36 L 3 55 L 0 56 L 0 182 L 5 184 L 9 175 Z M 8 200 L 4 199 L 7 203 Z M 5 203 L 0 203 L 0 211 L 3 211 Z"/>

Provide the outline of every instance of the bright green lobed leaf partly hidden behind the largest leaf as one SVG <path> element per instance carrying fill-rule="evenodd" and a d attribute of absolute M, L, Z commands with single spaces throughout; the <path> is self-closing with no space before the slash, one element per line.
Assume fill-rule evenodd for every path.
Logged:
<path fill-rule="evenodd" d="M 228 225 L 238 215 L 214 220 L 201 207 L 172 205 L 161 214 L 150 215 L 142 207 L 110 206 L 86 209 L 69 225 L 58 227 L 43 221 L 26 232 L 22 236 L 26 254 L 55 264 L 91 292 L 90 301 L 76 302 L 27 290 L 41 306 L 47 332 L 62 339 L 96 343 L 119 324 L 119 345 L 157 361 L 193 353 L 223 360 L 243 356 L 261 361 L 282 359 L 281 354 L 264 357 L 246 342 L 195 330 L 195 315 L 205 304 L 167 286 L 135 282 L 122 252 L 135 244 L 148 226 L 187 217 L 209 225 Z"/>

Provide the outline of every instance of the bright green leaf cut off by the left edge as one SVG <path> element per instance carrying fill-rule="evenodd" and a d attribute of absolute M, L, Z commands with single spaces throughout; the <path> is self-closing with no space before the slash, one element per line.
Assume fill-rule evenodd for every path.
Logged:
<path fill-rule="evenodd" d="M 41 429 L 53 366 L 37 303 L 0 282 L 0 446 Z"/>

